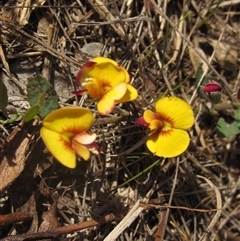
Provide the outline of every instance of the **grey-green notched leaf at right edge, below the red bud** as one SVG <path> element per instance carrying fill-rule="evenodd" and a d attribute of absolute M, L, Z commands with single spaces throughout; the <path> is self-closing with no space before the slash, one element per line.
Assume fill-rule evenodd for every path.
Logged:
<path fill-rule="evenodd" d="M 231 124 L 227 123 L 222 117 L 217 123 L 217 135 L 219 137 L 230 137 L 240 133 L 240 122 L 234 121 Z"/>

